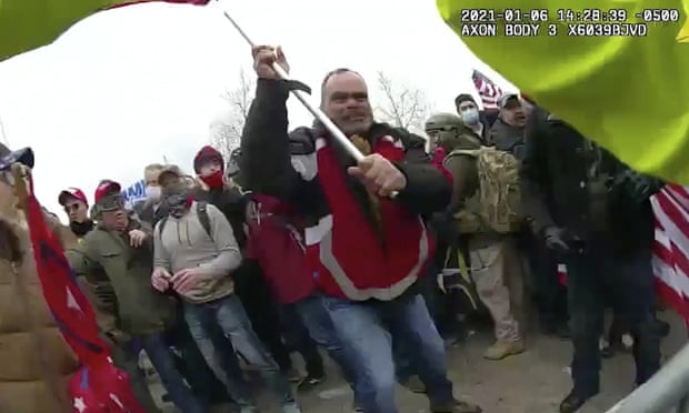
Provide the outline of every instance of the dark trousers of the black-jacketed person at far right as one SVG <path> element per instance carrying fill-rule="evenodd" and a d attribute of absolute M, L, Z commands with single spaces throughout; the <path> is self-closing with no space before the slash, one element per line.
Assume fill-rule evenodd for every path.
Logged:
<path fill-rule="evenodd" d="M 582 394 L 599 391 L 599 338 L 603 333 L 606 290 L 611 292 L 616 314 L 628 323 L 635 339 L 636 382 L 646 382 L 660 364 L 660 338 L 652 329 L 655 292 L 650 251 L 617 256 L 607 245 L 596 244 L 582 254 L 567 256 L 566 263 L 575 391 Z"/>

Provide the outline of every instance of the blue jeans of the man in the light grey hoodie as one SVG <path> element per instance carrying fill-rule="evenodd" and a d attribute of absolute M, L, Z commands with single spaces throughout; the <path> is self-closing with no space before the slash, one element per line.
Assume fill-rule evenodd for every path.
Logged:
<path fill-rule="evenodd" d="M 283 406 L 294 405 L 289 383 L 280 373 L 278 364 L 256 336 L 239 298 L 231 294 L 202 304 L 186 302 L 184 319 L 201 354 L 216 375 L 226 382 L 228 391 L 237 404 L 242 407 L 254 406 L 249 386 L 241 374 L 237 374 L 234 354 L 228 354 L 227 351 L 223 353 L 222 350 L 224 349 L 213 346 L 208 333 L 213 325 L 220 326 L 224 335 L 230 338 L 234 350 L 249 364 L 259 367 L 267 385 L 278 394 Z M 233 363 L 231 359 L 234 360 Z M 222 369 L 219 366 L 221 364 L 223 365 Z"/>

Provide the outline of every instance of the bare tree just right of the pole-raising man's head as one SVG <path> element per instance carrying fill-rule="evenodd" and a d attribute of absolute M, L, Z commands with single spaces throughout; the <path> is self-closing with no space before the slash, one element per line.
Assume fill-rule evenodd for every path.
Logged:
<path fill-rule="evenodd" d="M 423 131 L 423 122 L 430 111 L 423 91 L 396 84 L 382 71 L 378 72 L 378 90 L 383 102 L 376 108 L 376 112 L 381 121 L 415 132 Z"/>

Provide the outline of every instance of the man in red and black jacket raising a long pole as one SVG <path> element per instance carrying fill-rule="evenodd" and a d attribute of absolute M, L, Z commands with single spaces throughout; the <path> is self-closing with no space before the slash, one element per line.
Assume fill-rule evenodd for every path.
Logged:
<path fill-rule="evenodd" d="M 431 412 L 480 412 L 455 400 L 442 340 L 416 289 L 435 249 L 422 215 L 447 205 L 449 178 L 431 163 L 422 138 L 373 121 L 366 82 L 348 69 L 326 77 L 322 109 L 363 160 L 318 125 L 288 134 L 286 102 L 297 83 L 273 71 L 276 61 L 289 69 L 279 49 L 252 52 L 259 80 L 241 142 L 246 187 L 303 218 L 309 271 L 356 360 L 357 401 L 365 412 L 398 412 L 392 336 L 416 359 Z"/>

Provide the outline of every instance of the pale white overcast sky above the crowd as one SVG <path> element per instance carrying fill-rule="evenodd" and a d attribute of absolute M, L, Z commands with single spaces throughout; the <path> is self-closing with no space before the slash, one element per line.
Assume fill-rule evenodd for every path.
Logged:
<path fill-rule="evenodd" d="M 228 112 L 222 93 L 237 88 L 242 67 L 253 74 L 250 49 L 223 6 L 253 41 L 283 47 L 313 101 L 323 74 L 338 67 L 358 70 L 371 89 L 383 70 L 399 85 L 422 89 L 437 111 L 475 92 L 473 68 L 509 84 L 445 26 L 433 1 L 224 0 L 100 12 L 51 46 L 0 63 L 4 135 L 13 148 L 34 149 L 37 194 L 47 208 L 64 218 L 61 189 L 79 187 L 92 200 L 100 179 L 128 184 L 163 155 L 191 170 L 209 125 Z M 310 119 L 290 99 L 291 127 Z"/>

